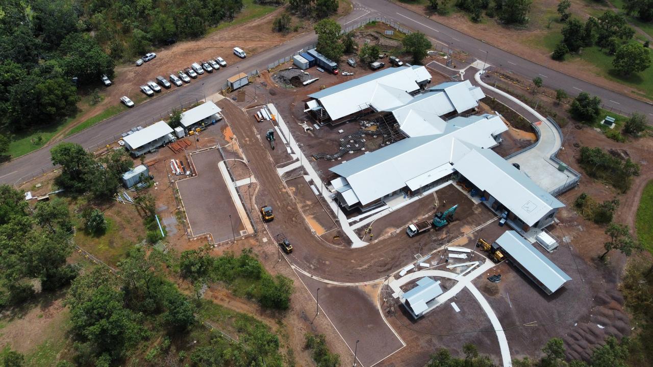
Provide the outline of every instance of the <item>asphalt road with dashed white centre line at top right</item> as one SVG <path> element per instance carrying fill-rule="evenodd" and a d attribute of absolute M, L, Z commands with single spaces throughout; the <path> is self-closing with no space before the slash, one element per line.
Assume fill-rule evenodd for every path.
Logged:
<path fill-rule="evenodd" d="M 653 121 L 653 104 L 648 104 L 615 91 L 595 86 L 573 76 L 554 71 L 543 65 L 515 56 L 389 1 L 356 0 L 356 3 L 357 5 L 355 7 L 370 10 L 368 16 L 386 16 L 411 29 L 416 29 L 430 37 L 438 39 L 440 42 L 451 44 L 453 48 L 464 50 L 479 60 L 485 60 L 487 57 L 487 62 L 491 65 L 501 65 L 505 69 L 517 72 L 528 78 L 534 78 L 539 75 L 543 78 L 547 86 L 554 89 L 565 89 L 569 95 L 577 95 L 581 91 L 586 91 L 592 95 L 601 97 L 601 101 L 606 106 L 611 106 L 628 113 L 642 112 L 647 115 L 649 121 Z"/>

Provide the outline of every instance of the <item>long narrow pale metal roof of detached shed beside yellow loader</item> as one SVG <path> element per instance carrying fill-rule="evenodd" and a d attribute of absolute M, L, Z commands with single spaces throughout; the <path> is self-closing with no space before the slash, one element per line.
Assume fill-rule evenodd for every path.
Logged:
<path fill-rule="evenodd" d="M 571 280 L 556 264 L 537 251 L 515 231 L 507 231 L 496 240 L 505 252 L 523 266 L 537 281 L 540 281 L 554 293 L 562 285 Z"/>

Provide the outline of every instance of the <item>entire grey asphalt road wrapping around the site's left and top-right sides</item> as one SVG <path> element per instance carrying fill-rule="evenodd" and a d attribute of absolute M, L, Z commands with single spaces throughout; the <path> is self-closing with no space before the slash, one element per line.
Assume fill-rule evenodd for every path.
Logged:
<path fill-rule="evenodd" d="M 347 24 L 355 24 L 367 17 L 386 16 L 387 18 L 407 25 L 407 27 L 422 31 L 426 35 L 438 39 L 445 44 L 452 44 L 453 48 L 465 50 L 477 59 L 487 59 L 487 62 L 491 65 L 502 65 L 506 69 L 511 69 L 528 77 L 539 74 L 545 80 L 545 84 L 550 88 L 565 89 L 570 95 L 574 95 L 575 92 L 580 93 L 581 91 L 586 91 L 592 95 L 601 97 L 601 100 L 606 106 L 613 106 L 628 113 L 641 112 L 649 120 L 653 117 L 653 105 L 651 104 L 595 86 L 594 84 L 584 82 L 562 72 L 548 69 L 522 57 L 490 46 L 481 40 L 464 35 L 389 1 L 357 0 L 354 3 L 354 8 L 353 12 L 347 16 Z M 341 20 L 342 23 L 343 20 Z M 227 78 L 236 74 L 236 67 L 244 72 L 249 72 L 254 69 L 266 69 L 266 65 L 288 56 L 309 44 L 313 44 L 315 40 L 316 37 L 313 33 L 306 33 L 261 54 L 247 57 L 247 59 L 235 65 L 229 65 L 226 69 L 214 72 L 214 74 L 205 75 L 201 79 L 193 80 L 191 84 L 187 84 L 183 88 L 178 88 L 172 91 L 172 93 L 153 98 L 147 103 L 132 108 L 129 112 L 124 112 L 81 131 L 76 135 L 69 136 L 64 141 L 76 142 L 86 148 L 97 147 L 100 144 L 104 144 L 112 136 L 128 131 L 132 127 L 148 125 L 153 120 L 158 120 L 161 113 L 170 110 L 174 106 L 178 106 L 180 103 L 186 104 L 195 101 L 195 99 L 203 99 L 205 93 L 207 95 L 215 93 L 215 91 L 225 84 Z M 14 184 L 16 182 L 22 182 L 31 178 L 34 172 L 42 169 L 51 169 L 50 148 L 52 146 L 46 146 L 1 165 L 0 183 Z"/>

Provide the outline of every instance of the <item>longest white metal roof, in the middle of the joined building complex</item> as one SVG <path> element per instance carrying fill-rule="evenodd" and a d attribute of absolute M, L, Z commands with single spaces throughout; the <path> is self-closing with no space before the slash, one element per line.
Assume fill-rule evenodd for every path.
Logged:
<path fill-rule="evenodd" d="M 419 187 L 446 176 L 445 170 L 438 168 L 464 156 L 471 150 L 469 144 L 492 147 L 496 145 L 492 135 L 507 130 L 503 121 L 494 115 L 454 120 L 447 121 L 442 134 L 406 138 L 330 170 L 346 178 L 360 203 L 365 205 L 401 189 L 408 182 Z M 433 180 L 426 182 L 427 178 Z"/>

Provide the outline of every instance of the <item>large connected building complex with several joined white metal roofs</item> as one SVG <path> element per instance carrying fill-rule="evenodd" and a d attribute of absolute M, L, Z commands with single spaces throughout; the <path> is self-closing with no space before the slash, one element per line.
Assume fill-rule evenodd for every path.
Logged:
<path fill-rule="evenodd" d="M 500 116 L 477 113 L 481 88 L 468 80 L 426 88 L 430 78 L 425 67 L 390 68 L 309 95 L 306 110 L 320 123 L 373 116 L 402 134 L 330 168 L 338 203 L 370 210 L 462 176 L 523 231 L 550 225 L 564 204 L 491 150 L 507 127 Z"/>

